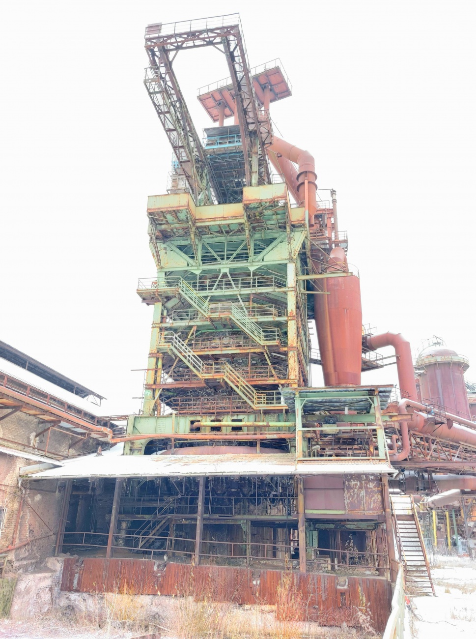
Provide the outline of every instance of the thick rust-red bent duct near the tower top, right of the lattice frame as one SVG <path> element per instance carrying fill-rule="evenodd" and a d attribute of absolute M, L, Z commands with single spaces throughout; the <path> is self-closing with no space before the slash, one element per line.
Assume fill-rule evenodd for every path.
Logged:
<path fill-rule="evenodd" d="M 314 224 L 314 216 L 318 210 L 318 206 L 316 204 L 316 191 L 318 189 L 316 180 L 318 176 L 316 175 L 314 157 L 312 157 L 309 151 L 303 151 L 297 146 L 289 144 L 289 142 L 285 142 L 276 136 L 273 137 L 273 144 L 268 146 L 268 151 L 280 153 L 282 157 L 298 165 L 298 172 L 296 174 L 297 201 L 298 204 L 301 205 L 306 202 L 305 187 L 307 181 L 307 215 L 309 217 L 309 229 L 314 229 L 316 226 L 316 224 Z M 291 190 L 290 187 L 289 189 Z"/>

